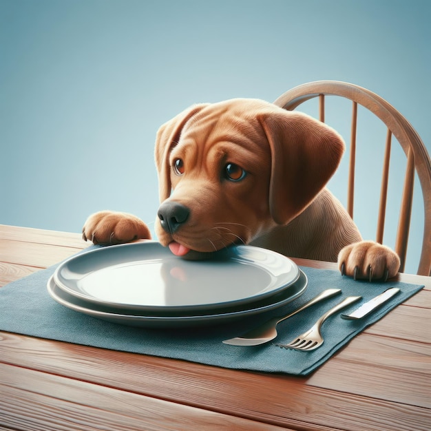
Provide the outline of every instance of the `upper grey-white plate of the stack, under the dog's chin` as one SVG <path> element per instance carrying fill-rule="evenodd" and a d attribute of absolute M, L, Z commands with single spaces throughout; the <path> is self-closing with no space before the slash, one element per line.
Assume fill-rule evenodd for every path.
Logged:
<path fill-rule="evenodd" d="M 234 246 L 211 260 L 189 261 L 149 241 L 76 255 L 56 269 L 54 282 L 92 304 L 160 315 L 260 301 L 298 277 L 292 260 L 266 249 Z"/>

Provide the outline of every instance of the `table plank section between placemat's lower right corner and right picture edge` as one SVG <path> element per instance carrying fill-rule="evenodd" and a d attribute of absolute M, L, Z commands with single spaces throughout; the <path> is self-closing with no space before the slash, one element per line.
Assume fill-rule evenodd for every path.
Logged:
<path fill-rule="evenodd" d="M 307 384 L 431 409 L 430 364 L 430 344 L 367 334 L 350 341 Z"/>

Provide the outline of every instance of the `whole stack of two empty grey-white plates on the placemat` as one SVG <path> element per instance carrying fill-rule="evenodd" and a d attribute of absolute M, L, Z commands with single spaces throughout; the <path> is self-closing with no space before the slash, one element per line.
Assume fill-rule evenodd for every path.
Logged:
<path fill-rule="evenodd" d="M 56 269 L 48 292 L 109 322 L 175 328 L 264 313 L 293 301 L 306 286 L 293 261 L 266 249 L 233 246 L 197 262 L 147 241 L 75 255 Z"/>

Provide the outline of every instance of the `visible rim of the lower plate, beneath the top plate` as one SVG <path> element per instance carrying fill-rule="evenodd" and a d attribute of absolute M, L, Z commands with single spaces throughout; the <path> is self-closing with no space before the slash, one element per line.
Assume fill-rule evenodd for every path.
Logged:
<path fill-rule="evenodd" d="M 238 319 L 244 319 L 266 311 L 274 310 L 288 304 L 293 301 L 306 290 L 308 280 L 306 275 L 299 270 L 298 280 L 291 285 L 291 288 L 282 291 L 273 297 L 266 298 L 263 301 L 255 304 L 251 308 L 235 309 L 232 307 L 229 311 L 224 313 L 215 314 L 202 314 L 202 315 L 182 315 L 182 316 L 165 316 L 165 315 L 145 315 L 145 314 L 127 314 L 116 313 L 109 307 L 93 304 L 90 308 L 89 303 L 78 299 L 73 295 L 69 295 L 63 289 L 56 286 L 54 277 L 50 277 L 48 281 L 48 293 L 51 297 L 74 311 L 97 317 L 98 319 L 105 320 L 116 324 L 122 324 L 127 326 L 140 326 L 147 328 L 182 328 L 187 326 L 200 326 L 200 325 L 213 325 L 213 324 L 224 324 L 227 322 L 233 322 Z"/>

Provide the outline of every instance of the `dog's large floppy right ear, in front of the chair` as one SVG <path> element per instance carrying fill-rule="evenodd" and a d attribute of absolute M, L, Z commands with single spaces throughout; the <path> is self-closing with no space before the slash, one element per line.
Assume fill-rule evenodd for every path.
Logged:
<path fill-rule="evenodd" d="M 334 129 L 300 112 L 275 109 L 258 118 L 271 147 L 269 209 L 287 224 L 333 176 L 344 152 Z"/>

